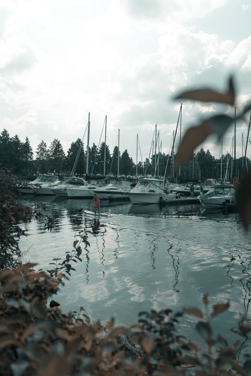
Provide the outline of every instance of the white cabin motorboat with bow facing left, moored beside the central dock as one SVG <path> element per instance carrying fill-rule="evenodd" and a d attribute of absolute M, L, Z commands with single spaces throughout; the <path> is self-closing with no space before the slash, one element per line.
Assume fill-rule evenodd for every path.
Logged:
<path fill-rule="evenodd" d="M 176 199 L 175 194 L 165 191 L 162 180 L 153 177 L 139 180 L 128 196 L 133 204 L 159 204 L 160 200 Z"/>

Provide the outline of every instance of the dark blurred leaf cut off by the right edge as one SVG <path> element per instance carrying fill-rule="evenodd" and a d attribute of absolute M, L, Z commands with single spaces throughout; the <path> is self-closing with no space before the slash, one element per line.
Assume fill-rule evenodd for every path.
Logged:
<path fill-rule="evenodd" d="M 242 178 L 236 189 L 236 207 L 245 230 L 251 217 L 251 169 Z"/>

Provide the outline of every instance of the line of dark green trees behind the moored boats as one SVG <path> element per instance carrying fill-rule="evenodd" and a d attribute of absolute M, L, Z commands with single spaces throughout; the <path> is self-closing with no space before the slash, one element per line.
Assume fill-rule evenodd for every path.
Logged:
<path fill-rule="evenodd" d="M 37 173 L 56 173 L 58 175 L 84 175 L 86 173 L 87 148 L 80 138 L 71 143 L 67 155 L 65 154 L 60 140 L 54 139 L 50 145 L 41 141 L 34 153 L 30 140 L 26 137 L 22 142 L 16 134 L 11 137 L 4 129 L 0 134 L 0 163 L 11 168 L 19 176 L 30 176 Z M 119 163 L 119 168 L 118 168 Z M 105 169 L 104 169 L 105 164 Z M 174 169 L 175 154 L 169 155 L 162 152 L 153 154 L 145 161 L 138 161 L 138 164 L 130 157 L 128 150 L 121 154 L 118 147 L 113 148 L 112 153 L 109 146 L 104 142 L 98 147 L 94 143 L 89 147 L 88 153 L 88 175 L 141 175 L 141 176 L 164 176 L 165 171 L 169 179 L 174 181 L 203 180 L 206 178 L 217 178 L 231 181 L 233 171 L 237 178 L 240 178 L 249 167 L 248 158 L 234 158 L 229 153 L 215 158 L 209 150 L 201 148 L 197 153 L 183 164 L 178 171 Z"/>

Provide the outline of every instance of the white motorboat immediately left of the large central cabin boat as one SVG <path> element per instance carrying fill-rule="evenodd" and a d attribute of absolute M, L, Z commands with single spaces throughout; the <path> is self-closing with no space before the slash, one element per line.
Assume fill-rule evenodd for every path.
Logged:
<path fill-rule="evenodd" d="M 94 190 L 102 199 L 123 199 L 128 198 L 131 191 L 131 182 L 129 180 L 114 180 L 109 184 Z"/>

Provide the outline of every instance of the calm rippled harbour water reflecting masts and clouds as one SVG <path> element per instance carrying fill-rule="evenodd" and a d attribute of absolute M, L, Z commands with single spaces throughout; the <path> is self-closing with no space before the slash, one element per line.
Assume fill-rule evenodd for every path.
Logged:
<path fill-rule="evenodd" d="M 237 326 L 239 313 L 250 321 L 250 234 L 244 233 L 237 214 L 201 213 L 198 205 L 160 208 L 103 201 L 101 211 L 109 215 L 95 222 L 78 213 L 89 200 L 19 200 L 47 204 L 56 221 L 52 232 L 44 230 L 44 221 L 23 225 L 28 237 L 20 246 L 27 251 L 26 260 L 39 268 L 50 268 L 53 257 L 64 259 L 79 230 L 93 232 L 83 261 L 74 264 L 76 272 L 55 297 L 63 311 L 84 306 L 92 321 L 114 317 L 117 324 L 130 325 L 142 310 L 203 310 L 202 295 L 208 293 L 212 304 L 230 300 L 229 310 L 213 323 L 227 339 L 238 339 L 229 328 Z M 194 322 L 187 317 L 183 329 L 189 332 Z"/>

